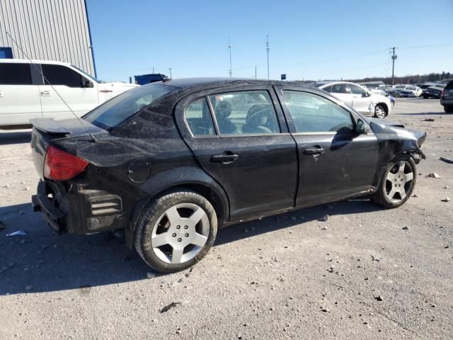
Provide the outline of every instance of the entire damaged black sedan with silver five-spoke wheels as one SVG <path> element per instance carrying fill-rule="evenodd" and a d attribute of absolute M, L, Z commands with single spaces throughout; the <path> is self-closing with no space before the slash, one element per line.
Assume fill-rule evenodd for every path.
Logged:
<path fill-rule="evenodd" d="M 35 211 L 58 232 L 124 229 L 162 272 L 200 261 L 231 223 L 357 196 L 396 208 L 425 157 L 425 133 L 282 81 L 165 80 L 33 125 Z"/>

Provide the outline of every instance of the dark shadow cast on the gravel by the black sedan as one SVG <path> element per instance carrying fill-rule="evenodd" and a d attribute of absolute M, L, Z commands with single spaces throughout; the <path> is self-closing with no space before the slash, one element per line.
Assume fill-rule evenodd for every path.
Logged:
<path fill-rule="evenodd" d="M 350 200 L 296 210 L 221 229 L 215 246 L 319 220 L 326 214 L 350 215 L 379 210 L 368 200 Z M 0 295 L 40 293 L 130 282 L 147 278 L 151 269 L 124 239 L 112 233 L 57 235 L 33 213 L 30 204 L 0 208 Z M 245 230 L 248 230 L 246 232 Z M 27 234 L 6 237 L 23 230 Z M 156 278 L 157 279 L 157 278 Z"/>

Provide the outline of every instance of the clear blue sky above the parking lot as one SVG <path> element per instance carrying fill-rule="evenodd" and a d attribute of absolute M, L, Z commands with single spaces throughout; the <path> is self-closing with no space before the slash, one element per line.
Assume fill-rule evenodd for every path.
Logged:
<path fill-rule="evenodd" d="M 350 79 L 453 72 L 453 0 L 87 0 L 98 78 Z"/>

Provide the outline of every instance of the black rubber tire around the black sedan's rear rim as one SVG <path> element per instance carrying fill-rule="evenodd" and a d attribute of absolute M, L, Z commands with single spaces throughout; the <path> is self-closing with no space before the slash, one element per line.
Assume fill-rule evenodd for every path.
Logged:
<path fill-rule="evenodd" d="M 151 235 L 154 228 L 161 227 L 161 225 L 158 225 L 157 223 L 159 220 L 159 223 L 161 223 L 161 218 L 165 212 L 178 204 L 193 204 L 202 208 L 207 215 L 207 220 L 209 220 L 209 235 L 207 236 L 205 245 L 202 246 L 202 249 L 195 257 L 181 263 L 167 263 L 156 255 L 156 252 L 151 245 Z M 149 266 L 151 266 L 151 268 L 162 273 L 175 273 L 177 271 L 183 271 L 203 259 L 210 250 L 212 244 L 214 244 L 216 235 L 217 214 L 212 207 L 212 204 L 195 191 L 178 188 L 164 193 L 159 198 L 151 200 L 151 202 L 144 206 L 135 225 L 134 243 L 135 249 L 137 249 L 139 255 Z M 169 246 L 169 244 L 166 244 L 166 246 Z"/>

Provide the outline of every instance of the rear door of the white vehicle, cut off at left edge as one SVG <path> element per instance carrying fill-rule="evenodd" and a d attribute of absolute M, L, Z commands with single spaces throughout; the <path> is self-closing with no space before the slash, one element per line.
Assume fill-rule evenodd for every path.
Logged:
<path fill-rule="evenodd" d="M 32 71 L 29 63 L 0 63 L 0 125 L 27 125 L 42 117 Z"/>

